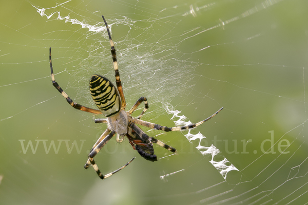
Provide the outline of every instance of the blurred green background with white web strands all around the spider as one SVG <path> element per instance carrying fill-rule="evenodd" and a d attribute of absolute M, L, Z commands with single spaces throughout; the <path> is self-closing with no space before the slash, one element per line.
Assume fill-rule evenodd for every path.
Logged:
<path fill-rule="evenodd" d="M 16 1 L 2 6 L 0 198 L 4 204 L 307 204 L 305 1 Z M 56 81 L 93 107 L 92 74 L 114 82 L 104 15 L 128 108 L 166 126 L 158 162 L 126 141 L 83 165 L 105 125 L 72 109 Z M 307 82 L 307 81 L 306 81 Z M 93 107 L 94 108 L 94 107 Z M 134 116 L 143 109 L 140 105 Z M 16 194 L 20 197 L 13 197 Z M 47 202 L 49 201 L 49 202 Z"/>

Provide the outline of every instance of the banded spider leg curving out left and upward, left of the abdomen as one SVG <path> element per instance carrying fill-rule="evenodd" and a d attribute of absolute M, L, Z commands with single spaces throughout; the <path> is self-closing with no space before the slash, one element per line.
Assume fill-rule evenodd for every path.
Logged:
<path fill-rule="evenodd" d="M 50 62 L 50 70 L 51 70 L 51 80 L 52 80 L 52 85 L 61 93 L 61 95 L 66 99 L 68 104 L 70 104 L 73 108 L 79 109 L 81 111 L 86 111 L 88 113 L 94 113 L 94 114 L 102 114 L 102 112 L 98 109 L 92 109 L 89 107 L 85 107 L 83 105 L 80 105 L 78 103 L 74 103 L 72 99 L 68 97 L 68 95 L 65 93 L 65 91 L 55 82 L 54 74 L 53 74 L 53 69 L 52 69 L 52 63 L 51 63 L 51 48 L 49 48 L 49 62 Z"/>

